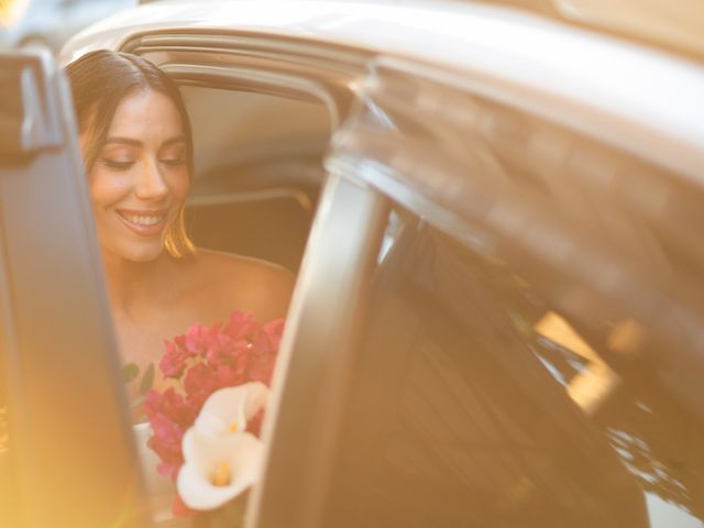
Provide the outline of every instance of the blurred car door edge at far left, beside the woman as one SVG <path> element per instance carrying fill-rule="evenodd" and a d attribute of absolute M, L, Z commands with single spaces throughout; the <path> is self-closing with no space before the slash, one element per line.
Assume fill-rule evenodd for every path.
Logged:
<path fill-rule="evenodd" d="M 0 55 L 0 525 L 148 526 L 68 84 Z"/>

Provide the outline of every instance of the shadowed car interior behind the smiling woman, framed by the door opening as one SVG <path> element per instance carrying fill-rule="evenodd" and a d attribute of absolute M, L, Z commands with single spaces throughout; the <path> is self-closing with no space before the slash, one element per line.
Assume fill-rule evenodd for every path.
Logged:
<path fill-rule="evenodd" d="M 182 91 L 195 142 L 186 222 L 196 246 L 296 272 L 323 179 L 328 109 L 223 88 Z"/>

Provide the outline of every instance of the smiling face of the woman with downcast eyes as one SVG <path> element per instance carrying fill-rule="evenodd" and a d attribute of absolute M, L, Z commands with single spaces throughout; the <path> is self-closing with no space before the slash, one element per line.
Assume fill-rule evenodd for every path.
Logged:
<path fill-rule="evenodd" d="M 188 195 L 186 138 L 172 100 L 129 92 L 89 173 L 103 252 L 134 262 L 156 258 Z"/>

